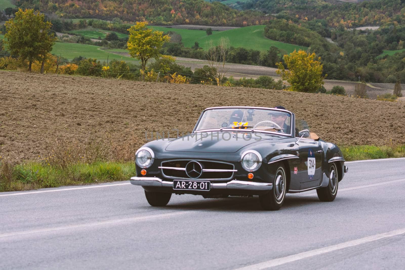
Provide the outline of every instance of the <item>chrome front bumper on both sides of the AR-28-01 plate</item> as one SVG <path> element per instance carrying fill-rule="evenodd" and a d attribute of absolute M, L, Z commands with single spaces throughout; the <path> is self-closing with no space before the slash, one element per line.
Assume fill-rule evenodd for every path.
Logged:
<path fill-rule="evenodd" d="M 158 177 L 131 177 L 131 184 L 149 187 L 172 187 L 173 182 L 164 181 Z M 232 180 L 227 183 L 211 183 L 211 189 L 242 189 L 242 190 L 271 190 L 273 184 L 250 181 Z"/>

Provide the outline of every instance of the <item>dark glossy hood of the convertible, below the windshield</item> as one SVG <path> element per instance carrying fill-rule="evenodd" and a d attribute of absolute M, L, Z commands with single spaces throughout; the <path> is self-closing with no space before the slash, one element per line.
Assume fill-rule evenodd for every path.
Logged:
<path fill-rule="evenodd" d="M 239 149 L 262 140 L 280 140 L 282 137 L 271 134 L 248 134 L 251 138 L 243 137 L 240 132 L 218 132 L 215 136 L 201 133 L 189 134 L 172 140 L 166 147 L 166 151 L 202 152 L 202 153 L 234 153 Z M 216 137 L 216 134 L 218 136 Z M 285 138 L 285 137 L 284 137 Z"/>

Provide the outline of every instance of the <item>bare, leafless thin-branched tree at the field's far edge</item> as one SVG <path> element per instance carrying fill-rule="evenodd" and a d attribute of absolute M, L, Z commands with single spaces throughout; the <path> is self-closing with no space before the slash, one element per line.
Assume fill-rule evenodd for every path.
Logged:
<path fill-rule="evenodd" d="M 211 70 L 216 70 L 215 79 L 219 84 L 229 69 L 225 67 L 228 61 L 229 38 L 222 37 L 218 41 L 217 46 L 214 45 L 211 39 L 206 47 L 208 47 L 207 51 L 205 51 L 208 65 L 211 67 Z"/>

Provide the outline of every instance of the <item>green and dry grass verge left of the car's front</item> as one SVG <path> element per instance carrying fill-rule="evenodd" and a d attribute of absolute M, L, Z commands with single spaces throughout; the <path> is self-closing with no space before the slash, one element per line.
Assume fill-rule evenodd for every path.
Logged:
<path fill-rule="evenodd" d="M 135 164 L 133 162 L 76 163 L 70 164 L 65 169 L 44 165 L 40 162 L 9 165 L 9 168 L 5 169 L 5 164 L 1 164 L 0 162 L 0 168 L 2 168 L 0 191 L 124 181 L 136 175 Z"/>

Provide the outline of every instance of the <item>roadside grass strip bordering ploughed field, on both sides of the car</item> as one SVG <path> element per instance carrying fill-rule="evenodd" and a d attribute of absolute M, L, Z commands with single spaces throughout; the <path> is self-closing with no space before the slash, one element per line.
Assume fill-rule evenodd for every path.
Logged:
<path fill-rule="evenodd" d="M 106 149 L 54 148 L 55 157 L 41 161 L 20 163 L 0 159 L 0 192 L 60 187 L 66 185 L 86 185 L 109 181 L 125 181 L 136 175 L 135 164 L 130 161 L 89 161 L 90 155 L 98 155 Z M 68 149 L 68 150 L 66 150 Z M 405 145 L 399 146 L 344 146 L 340 147 L 346 161 L 405 157 Z M 86 158 L 76 159 L 79 151 L 85 151 Z M 131 152 L 131 151 L 128 151 Z M 70 159 L 73 156 L 72 159 Z M 128 158 L 126 158 L 128 160 Z M 91 159 L 90 159 L 91 160 Z"/>

